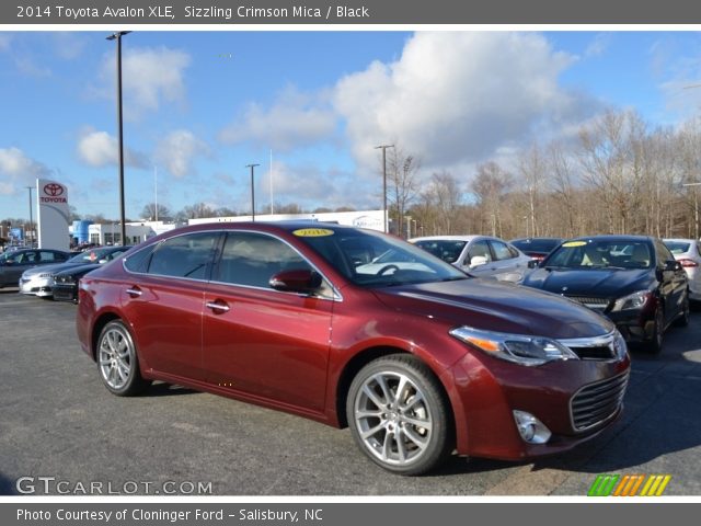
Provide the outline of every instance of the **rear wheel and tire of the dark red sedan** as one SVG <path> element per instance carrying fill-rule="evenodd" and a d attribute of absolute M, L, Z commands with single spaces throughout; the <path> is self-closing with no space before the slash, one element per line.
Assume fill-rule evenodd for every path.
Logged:
<path fill-rule="evenodd" d="M 100 378 L 113 395 L 133 397 L 151 384 L 141 377 L 134 339 L 122 321 L 111 321 L 102 329 L 95 355 Z"/>

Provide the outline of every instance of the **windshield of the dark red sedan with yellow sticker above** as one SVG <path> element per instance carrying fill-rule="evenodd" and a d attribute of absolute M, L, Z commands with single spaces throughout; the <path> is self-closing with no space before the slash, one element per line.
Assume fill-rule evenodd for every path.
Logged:
<path fill-rule="evenodd" d="M 401 239 L 349 228 L 323 231 L 333 233 L 299 236 L 299 239 L 356 285 L 382 287 L 468 277 Z"/>

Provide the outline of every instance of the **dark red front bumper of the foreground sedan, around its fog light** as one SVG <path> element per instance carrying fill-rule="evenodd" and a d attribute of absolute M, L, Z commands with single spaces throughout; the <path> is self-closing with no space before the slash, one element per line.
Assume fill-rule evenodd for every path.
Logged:
<path fill-rule="evenodd" d="M 622 359 L 571 359 L 524 367 L 470 353 L 451 368 L 458 454 L 520 460 L 572 449 L 618 420 L 629 369 L 628 355 Z M 581 403 L 582 392 L 608 382 L 618 387 L 601 418 L 577 425 L 575 419 L 579 416 L 574 416 L 573 407 Z M 545 444 L 525 442 L 516 427 L 514 410 L 540 420 L 552 433 L 550 439 Z"/>

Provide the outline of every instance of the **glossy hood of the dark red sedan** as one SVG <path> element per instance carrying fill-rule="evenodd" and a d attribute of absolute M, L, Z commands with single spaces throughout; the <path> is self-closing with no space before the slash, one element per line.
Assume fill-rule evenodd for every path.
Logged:
<path fill-rule="evenodd" d="M 496 332 L 554 339 L 591 338 L 614 325 L 566 298 L 492 279 L 461 279 L 375 290 L 398 311 Z"/>

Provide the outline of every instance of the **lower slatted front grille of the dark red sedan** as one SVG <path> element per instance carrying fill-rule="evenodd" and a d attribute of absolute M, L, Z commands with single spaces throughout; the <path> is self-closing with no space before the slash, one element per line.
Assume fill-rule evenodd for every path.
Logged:
<path fill-rule="evenodd" d="M 570 401 L 572 425 L 585 431 L 611 419 L 621 408 L 628 373 L 584 386 Z"/>

